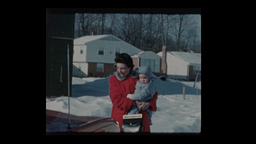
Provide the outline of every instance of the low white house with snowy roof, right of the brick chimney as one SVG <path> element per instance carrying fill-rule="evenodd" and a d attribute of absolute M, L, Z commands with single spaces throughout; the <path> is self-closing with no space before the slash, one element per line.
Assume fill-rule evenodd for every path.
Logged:
<path fill-rule="evenodd" d="M 164 51 L 164 50 L 163 50 Z M 163 56 L 158 52 L 159 56 Z M 201 80 L 201 54 L 194 52 L 166 52 L 167 78 L 178 80 L 194 81 L 198 73 L 197 80 Z M 163 67 L 163 66 L 162 66 Z"/>

